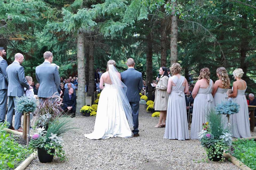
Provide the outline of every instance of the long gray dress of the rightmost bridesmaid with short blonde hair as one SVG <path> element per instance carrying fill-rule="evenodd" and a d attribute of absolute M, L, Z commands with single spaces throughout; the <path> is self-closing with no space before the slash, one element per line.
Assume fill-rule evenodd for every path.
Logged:
<path fill-rule="evenodd" d="M 247 87 L 246 87 L 247 88 Z M 233 98 L 233 102 L 239 104 L 240 109 L 236 114 L 231 114 L 230 124 L 231 133 L 235 138 L 251 137 L 248 104 L 245 97 L 245 90 L 237 90 L 237 97 Z"/>

